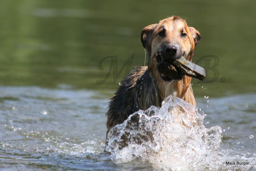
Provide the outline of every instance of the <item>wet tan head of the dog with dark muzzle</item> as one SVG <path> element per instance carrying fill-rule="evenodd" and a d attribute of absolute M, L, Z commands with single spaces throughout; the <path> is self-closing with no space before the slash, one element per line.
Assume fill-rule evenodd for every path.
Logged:
<path fill-rule="evenodd" d="M 145 27 L 141 33 L 141 42 L 149 57 L 148 68 L 155 77 L 166 82 L 181 80 L 183 74 L 170 65 L 171 60 L 182 56 L 192 60 L 194 47 L 200 40 L 200 33 L 188 27 L 185 20 L 172 16 L 158 24 Z"/>

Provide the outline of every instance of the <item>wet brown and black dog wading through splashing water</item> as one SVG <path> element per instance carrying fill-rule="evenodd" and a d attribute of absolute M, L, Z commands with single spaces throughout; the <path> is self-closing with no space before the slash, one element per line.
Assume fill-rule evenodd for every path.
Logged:
<path fill-rule="evenodd" d="M 178 16 L 166 18 L 142 30 L 141 42 L 147 51 L 148 67 L 136 67 L 120 82 L 106 113 L 107 135 L 112 127 L 123 123 L 135 111 L 146 110 L 151 105 L 161 107 L 162 101 L 169 95 L 196 105 L 191 77 L 184 76 L 175 68 L 168 68 L 164 61 L 181 57 L 191 61 L 199 40 L 200 33 L 188 27 L 185 20 Z"/>

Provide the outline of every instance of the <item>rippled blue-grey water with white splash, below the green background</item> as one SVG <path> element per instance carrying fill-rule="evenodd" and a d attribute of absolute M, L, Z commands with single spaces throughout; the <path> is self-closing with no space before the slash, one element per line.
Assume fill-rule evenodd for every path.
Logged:
<path fill-rule="evenodd" d="M 4 169 L 256 169 L 255 94 L 209 97 L 208 103 L 198 99 L 206 116 L 180 99 L 167 99 L 161 109 L 138 112 L 141 122 L 132 135 L 152 131 L 154 140 L 142 139 L 142 145 L 131 143 L 121 149 L 120 143 L 113 143 L 107 148 L 109 155 L 103 153 L 108 100 L 100 92 L 0 87 L 0 93 Z M 192 124 L 195 119 L 198 125 Z M 186 127 L 181 126 L 184 123 Z M 229 166 L 226 161 L 251 164 Z"/>

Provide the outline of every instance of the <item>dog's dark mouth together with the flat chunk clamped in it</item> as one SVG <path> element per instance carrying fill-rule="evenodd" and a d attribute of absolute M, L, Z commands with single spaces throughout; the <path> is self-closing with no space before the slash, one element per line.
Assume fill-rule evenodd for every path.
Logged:
<path fill-rule="evenodd" d="M 182 80 L 184 75 L 203 80 L 205 78 L 204 68 L 186 60 L 182 55 L 180 58 L 163 60 L 160 54 L 156 56 L 157 69 L 160 78 L 165 82 Z"/>

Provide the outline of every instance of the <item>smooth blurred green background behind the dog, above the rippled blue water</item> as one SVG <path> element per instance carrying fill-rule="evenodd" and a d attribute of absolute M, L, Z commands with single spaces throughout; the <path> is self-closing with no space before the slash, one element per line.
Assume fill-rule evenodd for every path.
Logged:
<path fill-rule="evenodd" d="M 124 72 L 116 82 L 111 73 L 97 84 L 110 67 L 106 60 L 100 70 L 99 62 L 117 56 L 120 70 L 134 54 L 131 66 L 144 65 L 142 28 L 178 15 L 202 36 L 193 61 L 207 55 L 219 59 L 217 80 L 193 80 L 194 94 L 255 92 L 255 6 L 247 0 L 1 0 L 0 84 L 111 94 Z"/>

